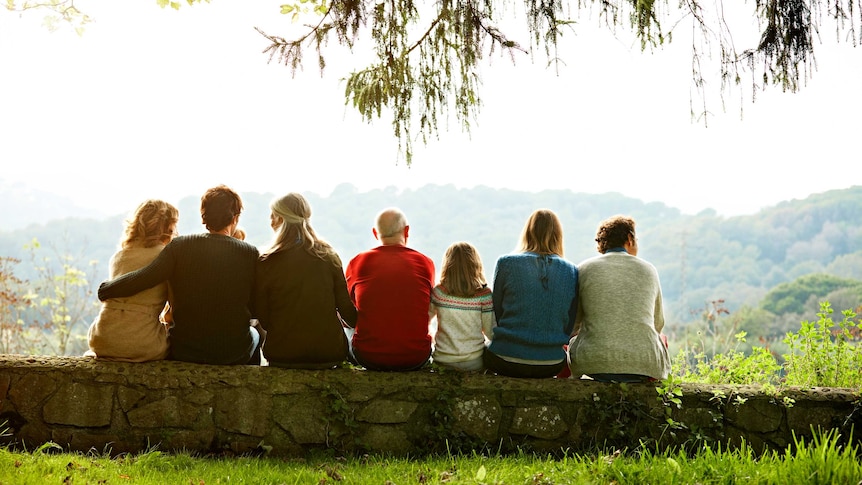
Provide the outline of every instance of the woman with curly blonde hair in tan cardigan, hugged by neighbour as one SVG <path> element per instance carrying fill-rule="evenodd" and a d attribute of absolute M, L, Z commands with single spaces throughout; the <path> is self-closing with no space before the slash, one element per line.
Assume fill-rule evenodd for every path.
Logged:
<path fill-rule="evenodd" d="M 126 221 L 120 250 L 111 257 L 110 278 L 149 264 L 176 235 L 179 211 L 161 200 L 147 200 Z M 87 355 L 125 362 L 160 360 L 168 356 L 168 330 L 159 320 L 168 300 L 163 282 L 126 298 L 102 304 L 90 326 Z"/>

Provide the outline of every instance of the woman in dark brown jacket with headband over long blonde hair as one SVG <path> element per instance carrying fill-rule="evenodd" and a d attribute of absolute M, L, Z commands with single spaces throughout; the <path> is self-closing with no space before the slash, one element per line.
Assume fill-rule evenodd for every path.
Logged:
<path fill-rule="evenodd" d="M 314 233 L 305 197 L 289 193 L 270 209 L 276 234 L 258 262 L 254 305 L 263 355 L 277 367 L 335 367 L 347 359 L 342 320 L 356 323 L 341 259 Z"/>

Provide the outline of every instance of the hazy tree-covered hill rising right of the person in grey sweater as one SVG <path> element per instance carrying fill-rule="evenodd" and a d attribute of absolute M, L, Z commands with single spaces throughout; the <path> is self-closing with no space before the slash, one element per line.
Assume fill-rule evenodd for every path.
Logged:
<path fill-rule="evenodd" d="M 808 274 L 862 279 L 860 208 L 862 186 L 856 186 L 750 216 L 686 217 L 661 225 L 662 242 L 645 257 L 659 268 L 665 294 L 680 311 L 716 298 L 731 309 L 757 305 L 776 285 Z"/>

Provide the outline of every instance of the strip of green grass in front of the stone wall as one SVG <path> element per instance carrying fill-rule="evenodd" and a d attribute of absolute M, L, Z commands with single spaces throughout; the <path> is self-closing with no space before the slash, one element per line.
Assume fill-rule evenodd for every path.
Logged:
<path fill-rule="evenodd" d="M 0 449 L 0 484 L 850 484 L 862 483 L 858 446 L 827 432 L 810 443 L 757 455 L 746 446 L 697 453 L 640 450 L 562 456 L 371 455 L 276 458 L 195 458 L 150 451 L 100 454 Z"/>

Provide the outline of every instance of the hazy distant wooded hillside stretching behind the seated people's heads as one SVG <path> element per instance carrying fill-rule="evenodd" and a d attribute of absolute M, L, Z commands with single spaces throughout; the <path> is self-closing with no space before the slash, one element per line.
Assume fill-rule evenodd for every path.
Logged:
<path fill-rule="evenodd" d="M 245 211 L 240 225 L 248 232 L 249 242 L 264 246 L 272 235 L 268 206 L 274 194 L 242 195 Z M 595 230 L 602 219 L 618 213 L 631 215 L 638 223 L 640 256 L 659 271 L 671 322 L 697 318 L 692 311 L 714 299 L 725 300 L 731 310 L 756 306 L 772 288 L 807 274 L 862 280 L 862 186 L 730 218 L 712 211 L 682 215 L 664 204 L 644 203 L 617 193 L 563 190 L 529 193 L 428 185 L 415 190 L 390 187 L 359 192 L 344 184 L 327 197 L 305 195 L 312 205 L 315 230 L 345 261 L 376 245 L 371 235 L 374 216 L 385 207 L 398 206 L 410 220 L 412 247 L 439 265 L 449 244 L 470 241 L 483 257 L 489 280 L 496 258 L 515 247 L 525 220 L 537 208 L 559 214 L 566 233 L 565 256 L 574 262 L 596 254 Z M 199 197 L 190 195 L 179 203 L 182 234 L 203 230 Z M 53 210 L 59 213 L 56 207 Z M 0 230 L 0 256 L 26 260 L 22 246 L 35 237 L 81 261 L 98 261 L 101 277 L 106 277 L 108 259 L 122 232 L 122 216 L 78 216 Z M 19 272 L 29 277 L 26 266 L 19 265 Z"/>

